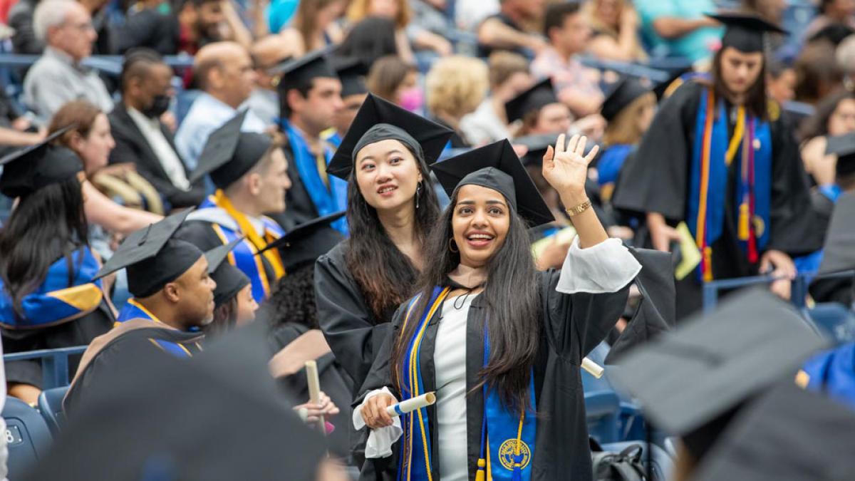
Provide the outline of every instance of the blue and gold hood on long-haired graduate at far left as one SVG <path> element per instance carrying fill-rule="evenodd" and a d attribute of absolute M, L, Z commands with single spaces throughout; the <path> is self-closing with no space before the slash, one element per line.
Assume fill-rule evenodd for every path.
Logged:
<path fill-rule="evenodd" d="M 50 264 L 44 282 L 21 300 L 23 316 L 15 312 L 9 292 L 0 282 L 0 325 L 9 330 L 49 327 L 81 318 L 103 300 L 101 280 L 92 281 L 101 268 L 89 247 L 80 247 Z M 71 280 L 71 282 L 69 282 Z"/>

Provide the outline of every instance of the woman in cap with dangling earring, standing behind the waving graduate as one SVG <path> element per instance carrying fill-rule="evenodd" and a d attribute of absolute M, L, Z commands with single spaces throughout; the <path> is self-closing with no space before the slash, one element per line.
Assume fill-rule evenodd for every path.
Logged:
<path fill-rule="evenodd" d="M 354 389 L 428 262 L 422 249 L 439 216 L 428 165 L 451 134 L 369 95 L 328 167 L 347 181 L 351 238 L 318 258 L 315 301 L 321 330 Z"/>

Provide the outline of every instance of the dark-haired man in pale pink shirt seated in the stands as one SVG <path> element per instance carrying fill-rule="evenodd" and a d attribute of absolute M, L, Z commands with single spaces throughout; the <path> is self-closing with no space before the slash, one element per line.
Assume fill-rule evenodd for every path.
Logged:
<path fill-rule="evenodd" d="M 546 9 L 544 33 L 550 47 L 531 65 L 538 78 L 550 77 L 558 98 L 575 116 L 589 116 L 603 104 L 598 73 L 584 67 L 577 56 L 587 48 L 591 27 L 578 3 L 554 3 Z"/>

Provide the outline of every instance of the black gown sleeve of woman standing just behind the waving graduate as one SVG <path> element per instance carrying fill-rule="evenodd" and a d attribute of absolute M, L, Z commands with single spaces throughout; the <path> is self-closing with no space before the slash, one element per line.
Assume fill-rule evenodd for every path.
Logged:
<path fill-rule="evenodd" d="M 339 245 L 315 263 L 315 303 L 318 324 L 329 347 L 358 388 L 371 369 L 389 324 L 376 324 L 356 281 L 347 272 L 342 251 Z"/>

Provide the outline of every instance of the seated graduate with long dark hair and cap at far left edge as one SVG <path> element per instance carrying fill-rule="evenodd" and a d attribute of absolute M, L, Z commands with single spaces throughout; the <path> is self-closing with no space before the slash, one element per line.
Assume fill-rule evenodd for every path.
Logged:
<path fill-rule="evenodd" d="M 0 230 L 4 353 L 88 344 L 114 321 L 105 286 L 95 280 L 101 264 L 89 246 L 83 164 L 54 144 L 61 134 L 4 158 L 0 193 L 18 199 Z M 71 372 L 79 360 L 70 359 Z M 36 401 L 42 385 L 38 359 L 7 361 L 5 373 L 9 395 Z"/>

